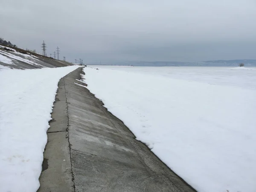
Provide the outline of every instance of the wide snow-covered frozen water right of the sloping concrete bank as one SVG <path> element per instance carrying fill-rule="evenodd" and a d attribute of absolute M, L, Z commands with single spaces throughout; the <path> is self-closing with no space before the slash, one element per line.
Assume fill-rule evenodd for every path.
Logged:
<path fill-rule="evenodd" d="M 256 191 L 256 70 L 95 68 L 87 88 L 198 192 Z"/>

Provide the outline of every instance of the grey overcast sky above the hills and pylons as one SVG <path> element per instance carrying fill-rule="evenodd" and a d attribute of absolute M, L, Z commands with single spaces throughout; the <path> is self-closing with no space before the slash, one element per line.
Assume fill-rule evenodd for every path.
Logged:
<path fill-rule="evenodd" d="M 0 24 L 68 61 L 256 59 L 256 0 L 0 0 Z"/>

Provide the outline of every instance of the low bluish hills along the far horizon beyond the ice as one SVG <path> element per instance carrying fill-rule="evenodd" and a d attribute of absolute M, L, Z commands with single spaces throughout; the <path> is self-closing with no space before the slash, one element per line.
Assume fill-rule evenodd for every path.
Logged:
<path fill-rule="evenodd" d="M 199 62 L 178 62 L 178 61 L 124 61 L 124 62 L 106 62 L 101 65 L 124 65 L 124 66 L 148 66 L 148 67 L 165 67 L 165 66 L 205 66 L 205 67 L 237 67 L 243 63 L 246 67 L 256 67 L 256 59 L 237 59 L 237 60 L 215 60 Z M 91 63 L 100 65 L 99 63 Z"/>

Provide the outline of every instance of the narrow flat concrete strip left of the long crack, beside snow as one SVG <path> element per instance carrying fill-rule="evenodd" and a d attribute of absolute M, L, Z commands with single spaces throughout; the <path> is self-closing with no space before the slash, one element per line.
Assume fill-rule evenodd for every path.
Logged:
<path fill-rule="evenodd" d="M 68 115 L 64 79 L 58 83 L 58 92 L 47 131 L 43 170 L 38 192 L 74 192 L 68 142 Z"/>

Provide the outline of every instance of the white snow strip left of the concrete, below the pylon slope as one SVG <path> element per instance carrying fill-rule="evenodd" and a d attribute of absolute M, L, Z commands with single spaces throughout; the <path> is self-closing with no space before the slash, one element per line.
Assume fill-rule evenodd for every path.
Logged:
<path fill-rule="evenodd" d="M 36 192 L 58 81 L 77 66 L 0 71 L 0 191 Z"/>

